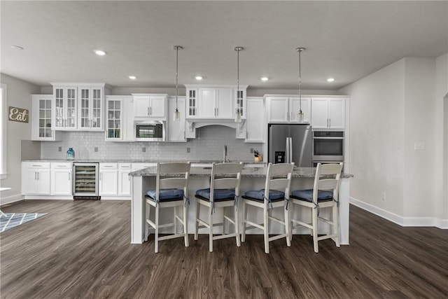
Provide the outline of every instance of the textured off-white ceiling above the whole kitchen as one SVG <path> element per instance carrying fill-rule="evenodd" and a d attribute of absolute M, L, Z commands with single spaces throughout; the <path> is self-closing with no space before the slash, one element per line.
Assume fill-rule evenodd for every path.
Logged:
<path fill-rule="evenodd" d="M 297 88 L 299 46 L 308 90 L 448 52 L 448 1 L 0 1 L 0 9 L 1 73 L 43 86 L 173 88 L 174 45 L 183 46 L 179 85 L 198 83 L 197 74 L 236 84 L 242 46 L 239 82 L 262 89 Z"/>

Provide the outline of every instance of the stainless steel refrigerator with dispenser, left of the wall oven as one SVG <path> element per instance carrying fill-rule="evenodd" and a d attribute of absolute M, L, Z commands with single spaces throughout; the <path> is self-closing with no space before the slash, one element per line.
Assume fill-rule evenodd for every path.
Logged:
<path fill-rule="evenodd" d="M 269 124 L 267 129 L 268 162 L 312 167 L 311 125 Z"/>

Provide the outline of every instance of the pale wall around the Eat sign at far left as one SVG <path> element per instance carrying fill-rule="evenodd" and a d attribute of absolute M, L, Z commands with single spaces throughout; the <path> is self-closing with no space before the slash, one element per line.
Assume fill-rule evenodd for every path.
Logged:
<path fill-rule="evenodd" d="M 40 88 L 38 86 L 5 74 L 0 74 L 0 81 L 1 83 L 6 84 L 8 88 L 7 106 L 15 106 L 22 109 L 29 109 L 29 111 L 31 111 L 31 95 L 40 92 Z M 3 115 L 3 117 L 7 118 L 8 115 Z M 20 142 L 22 139 L 31 139 L 31 122 L 18 123 L 8 121 L 6 140 L 8 151 L 8 175 L 6 179 L 1 180 L 1 186 L 9 187 L 11 190 L 3 191 L 1 193 L 1 204 L 22 198 L 20 190 L 22 176 L 20 163 Z"/>

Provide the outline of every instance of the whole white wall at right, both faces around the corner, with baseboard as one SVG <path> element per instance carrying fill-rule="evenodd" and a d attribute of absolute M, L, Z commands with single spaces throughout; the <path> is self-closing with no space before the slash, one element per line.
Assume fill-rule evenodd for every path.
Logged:
<path fill-rule="evenodd" d="M 339 90 L 351 97 L 353 204 L 401 225 L 448 228 L 447 65 L 447 55 L 408 57 Z"/>

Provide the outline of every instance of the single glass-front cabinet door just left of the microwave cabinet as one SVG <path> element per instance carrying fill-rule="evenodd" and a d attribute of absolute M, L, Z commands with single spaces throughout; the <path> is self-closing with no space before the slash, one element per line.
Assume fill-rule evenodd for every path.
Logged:
<path fill-rule="evenodd" d="M 123 99 L 106 97 L 106 140 L 123 139 Z"/>

